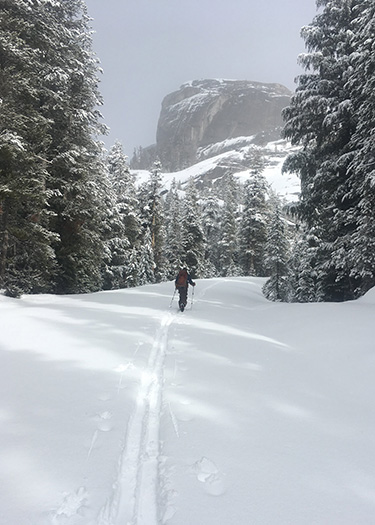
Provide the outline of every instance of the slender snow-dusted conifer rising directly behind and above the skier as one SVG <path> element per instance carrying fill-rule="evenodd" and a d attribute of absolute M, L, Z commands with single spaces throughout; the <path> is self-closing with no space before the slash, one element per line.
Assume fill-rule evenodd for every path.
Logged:
<path fill-rule="evenodd" d="M 190 179 L 182 206 L 182 248 L 183 264 L 193 279 L 204 277 L 205 245 L 198 194 L 194 180 Z"/>

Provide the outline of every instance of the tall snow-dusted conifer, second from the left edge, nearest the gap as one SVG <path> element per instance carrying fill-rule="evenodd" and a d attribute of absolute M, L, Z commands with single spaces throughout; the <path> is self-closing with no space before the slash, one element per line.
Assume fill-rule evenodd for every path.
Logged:
<path fill-rule="evenodd" d="M 98 60 L 92 51 L 87 9 L 82 0 L 41 3 L 50 40 L 41 53 L 48 57 L 47 90 L 42 112 L 50 122 L 48 189 L 55 218 L 51 229 L 57 292 L 87 292 L 101 287 L 105 215 L 101 193 L 101 146 L 95 137 L 105 130 L 98 106 Z"/>

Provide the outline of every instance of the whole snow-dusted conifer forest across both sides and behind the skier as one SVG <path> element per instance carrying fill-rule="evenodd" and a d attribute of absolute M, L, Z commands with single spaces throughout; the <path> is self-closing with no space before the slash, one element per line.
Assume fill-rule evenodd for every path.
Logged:
<path fill-rule="evenodd" d="M 249 177 L 139 183 L 107 151 L 100 62 L 82 0 L 2 0 L 0 289 L 75 294 L 174 279 L 268 277 L 277 301 L 343 301 L 375 285 L 375 3 L 318 0 L 283 112 L 298 174 L 286 205 Z"/>

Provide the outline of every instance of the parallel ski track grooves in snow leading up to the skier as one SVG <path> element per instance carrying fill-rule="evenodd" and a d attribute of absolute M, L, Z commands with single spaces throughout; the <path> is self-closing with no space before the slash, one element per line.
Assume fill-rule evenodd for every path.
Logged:
<path fill-rule="evenodd" d="M 99 525 L 158 525 L 160 416 L 168 330 L 175 315 L 162 319 L 130 417 L 111 500 L 102 509 Z"/>

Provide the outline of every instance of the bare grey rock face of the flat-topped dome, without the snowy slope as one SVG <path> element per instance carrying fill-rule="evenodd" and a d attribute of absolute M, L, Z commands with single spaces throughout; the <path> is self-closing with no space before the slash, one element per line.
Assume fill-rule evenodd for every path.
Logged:
<path fill-rule="evenodd" d="M 167 95 L 157 128 L 156 155 L 165 171 L 217 154 L 214 145 L 249 137 L 262 145 L 280 138 L 281 111 L 291 92 L 280 84 L 196 80 Z"/>

